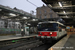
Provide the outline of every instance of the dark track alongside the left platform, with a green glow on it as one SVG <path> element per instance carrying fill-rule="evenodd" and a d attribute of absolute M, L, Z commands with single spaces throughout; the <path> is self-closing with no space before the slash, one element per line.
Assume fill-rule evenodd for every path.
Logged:
<path fill-rule="evenodd" d="M 21 38 L 21 39 L 12 39 L 12 40 L 5 40 L 5 41 L 0 41 L 0 48 L 16 43 L 23 43 L 23 42 L 28 42 L 35 40 L 36 38 L 30 37 L 30 38 Z"/>

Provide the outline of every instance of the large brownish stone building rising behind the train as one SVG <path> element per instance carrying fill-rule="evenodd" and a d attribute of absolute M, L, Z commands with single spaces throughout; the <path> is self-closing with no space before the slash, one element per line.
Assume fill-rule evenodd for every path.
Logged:
<path fill-rule="evenodd" d="M 39 19 L 58 18 L 58 15 L 48 6 L 43 5 L 36 9 L 36 17 Z"/>

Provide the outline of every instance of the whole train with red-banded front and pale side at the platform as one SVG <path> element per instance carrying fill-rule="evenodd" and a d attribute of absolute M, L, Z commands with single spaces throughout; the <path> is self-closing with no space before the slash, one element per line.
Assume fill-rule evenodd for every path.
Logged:
<path fill-rule="evenodd" d="M 37 37 L 42 42 L 53 42 L 67 33 L 66 26 L 56 21 L 39 22 L 37 26 Z"/>

